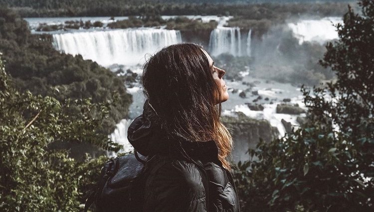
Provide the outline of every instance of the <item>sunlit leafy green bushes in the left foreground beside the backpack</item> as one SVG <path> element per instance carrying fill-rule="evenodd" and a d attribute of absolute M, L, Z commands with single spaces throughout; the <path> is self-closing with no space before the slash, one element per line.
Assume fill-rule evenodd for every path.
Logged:
<path fill-rule="evenodd" d="M 79 211 L 106 157 L 81 163 L 57 141 L 90 143 L 108 151 L 121 146 L 98 133 L 110 104 L 91 100 L 58 101 L 18 92 L 10 86 L 0 60 L 0 211 Z M 67 113 L 71 107 L 81 109 Z M 97 113 L 92 116 L 91 111 Z"/>

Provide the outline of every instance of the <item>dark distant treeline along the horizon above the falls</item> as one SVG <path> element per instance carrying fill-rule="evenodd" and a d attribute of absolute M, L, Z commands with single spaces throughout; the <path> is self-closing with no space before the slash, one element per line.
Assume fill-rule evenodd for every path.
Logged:
<path fill-rule="evenodd" d="M 264 3 L 267 2 L 267 3 Z M 287 4 L 282 4 L 287 2 Z M 252 15 L 253 10 L 290 15 L 339 15 L 346 12 L 347 0 L 0 0 L 0 5 L 14 7 L 22 17 L 51 16 L 130 16 L 130 15 Z M 255 9 L 253 9 L 255 8 Z M 258 9 L 256 9 L 258 8 Z"/>

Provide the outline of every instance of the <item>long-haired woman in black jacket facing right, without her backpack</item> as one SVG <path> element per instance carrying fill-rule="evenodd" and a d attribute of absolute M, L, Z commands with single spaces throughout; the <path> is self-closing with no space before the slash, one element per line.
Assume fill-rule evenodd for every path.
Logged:
<path fill-rule="evenodd" d="M 143 211 L 239 211 L 226 161 L 231 136 L 219 119 L 228 99 L 224 74 L 191 43 L 165 47 L 146 63 L 148 100 L 128 130 L 134 148 L 152 158 Z"/>

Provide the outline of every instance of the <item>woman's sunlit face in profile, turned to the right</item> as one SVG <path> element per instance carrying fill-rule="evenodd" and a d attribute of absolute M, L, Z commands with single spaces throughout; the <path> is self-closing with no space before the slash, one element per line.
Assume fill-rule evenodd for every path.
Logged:
<path fill-rule="evenodd" d="M 208 58 L 209 67 L 210 67 L 210 71 L 213 75 L 213 79 L 214 79 L 215 83 L 217 84 L 218 88 L 220 89 L 220 93 L 221 93 L 220 98 L 219 98 L 219 95 L 217 93 L 215 94 L 216 104 L 219 104 L 219 103 L 224 102 L 228 99 L 227 86 L 226 86 L 225 81 L 222 78 L 223 75 L 225 74 L 225 71 L 223 69 L 220 69 L 220 68 L 214 66 L 213 59 L 209 56 L 209 54 L 204 49 L 201 49 L 201 50 L 204 52 L 204 54 Z"/>

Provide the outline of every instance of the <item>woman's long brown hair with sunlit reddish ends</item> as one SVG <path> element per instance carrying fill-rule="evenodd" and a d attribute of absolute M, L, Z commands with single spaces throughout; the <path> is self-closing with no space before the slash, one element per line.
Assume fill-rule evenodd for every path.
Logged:
<path fill-rule="evenodd" d="M 201 46 L 175 44 L 157 52 L 144 66 L 143 86 L 168 133 L 189 141 L 214 140 L 218 159 L 230 168 L 232 139 L 220 121 L 221 104 L 215 104 L 220 89 Z"/>

